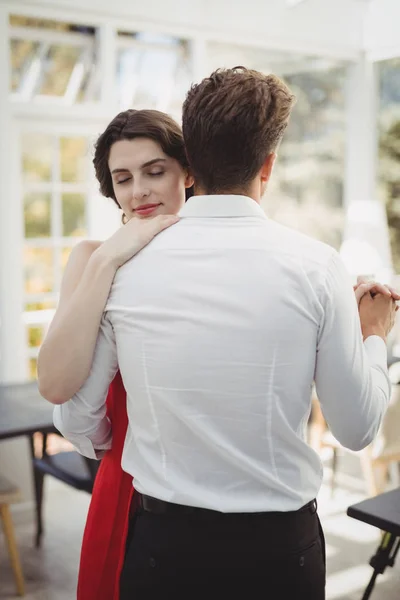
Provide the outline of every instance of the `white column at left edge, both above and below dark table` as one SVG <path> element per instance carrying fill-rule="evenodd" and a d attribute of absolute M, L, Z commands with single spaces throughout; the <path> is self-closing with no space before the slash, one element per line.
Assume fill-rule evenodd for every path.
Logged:
<path fill-rule="evenodd" d="M 18 145 L 11 124 L 9 69 L 8 13 L 0 4 L 0 383 L 22 381 L 28 374 L 22 323 L 23 207 L 15 160 Z M 25 501 L 22 508 L 32 510 L 32 468 L 26 438 L 1 442 L 0 471 L 20 487 Z"/>

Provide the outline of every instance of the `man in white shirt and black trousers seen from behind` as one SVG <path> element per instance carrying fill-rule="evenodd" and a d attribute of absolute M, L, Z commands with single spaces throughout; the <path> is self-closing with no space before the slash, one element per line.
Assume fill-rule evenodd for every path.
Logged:
<path fill-rule="evenodd" d="M 192 87 L 183 131 L 196 196 L 117 273 L 91 375 L 55 409 L 83 454 L 109 448 L 118 363 L 123 468 L 141 506 L 122 600 L 324 598 L 311 387 L 336 438 L 368 445 L 389 401 L 395 304 L 365 294 L 359 316 L 337 253 L 260 208 L 293 101 L 277 77 L 244 68 Z"/>

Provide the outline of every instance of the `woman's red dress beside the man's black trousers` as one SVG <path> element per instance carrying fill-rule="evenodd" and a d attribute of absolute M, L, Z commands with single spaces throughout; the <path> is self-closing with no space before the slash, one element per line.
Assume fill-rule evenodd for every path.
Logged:
<path fill-rule="evenodd" d="M 128 416 L 126 392 L 118 372 L 107 396 L 112 449 L 101 461 L 82 541 L 77 600 L 119 600 L 132 477 L 121 468 Z"/>

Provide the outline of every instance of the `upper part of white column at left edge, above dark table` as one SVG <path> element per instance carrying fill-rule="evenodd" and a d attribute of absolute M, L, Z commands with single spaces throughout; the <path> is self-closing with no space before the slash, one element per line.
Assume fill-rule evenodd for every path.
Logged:
<path fill-rule="evenodd" d="M 27 376 L 23 312 L 23 208 L 16 185 L 9 102 L 8 12 L 0 5 L 0 382 Z"/>

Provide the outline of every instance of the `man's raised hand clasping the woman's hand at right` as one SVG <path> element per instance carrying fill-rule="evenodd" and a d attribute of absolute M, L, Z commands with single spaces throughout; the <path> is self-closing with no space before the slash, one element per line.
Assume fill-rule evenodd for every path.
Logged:
<path fill-rule="evenodd" d="M 364 294 L 359 304 L 361 329 L 364 340 L 370 335 L 378 335 L 385 342 L 395 321 L 397 310 L 391 294 Z"/>

